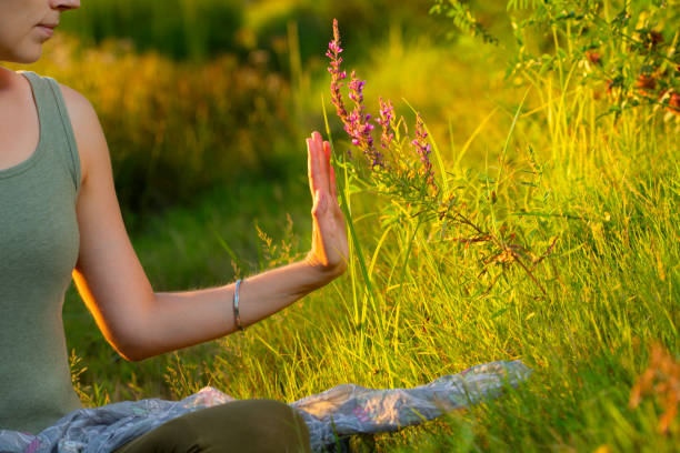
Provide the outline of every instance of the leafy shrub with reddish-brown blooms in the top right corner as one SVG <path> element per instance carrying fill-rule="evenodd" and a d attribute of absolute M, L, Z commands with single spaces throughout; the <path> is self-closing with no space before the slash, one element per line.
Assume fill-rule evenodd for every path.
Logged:
<path fill-rule="evenodd" d="M 468 1 L 434 0 L 432 13 L 454 28 L 499 43 Z M 510 0 L 516 48 L 508 76 L 532 84 L 552 71 L 563 88 L 590 84 L 608 100 L 606 113 L 652 105 L 670 120 L 680 115 L 680 3 L 677 0 Z"/>

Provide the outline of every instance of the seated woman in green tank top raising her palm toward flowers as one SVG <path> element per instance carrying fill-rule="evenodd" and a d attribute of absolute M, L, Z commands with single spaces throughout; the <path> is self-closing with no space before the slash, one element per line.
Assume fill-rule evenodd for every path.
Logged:
<path fill-rule="evenodd" d="M 0 62 L 31 63 L 79 0 L 0 0 Z M 153 292 L 130 244 L 109 150 L 77 91 L 0 66 L 0 430 L 38 433 L 80 407 L 61 321 L 78 291 L 107 341 L 139 361 L 213 340 L 282 310 L 346 269 L 344 220 L 330 147 L 307 139 L 312 245 L 300 262 L 200 291 Z M 239 401 L 199 410 L 119 452 L 308 451 L 288 405 Z"/>

